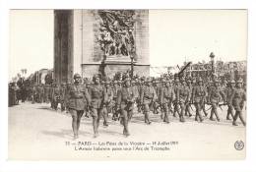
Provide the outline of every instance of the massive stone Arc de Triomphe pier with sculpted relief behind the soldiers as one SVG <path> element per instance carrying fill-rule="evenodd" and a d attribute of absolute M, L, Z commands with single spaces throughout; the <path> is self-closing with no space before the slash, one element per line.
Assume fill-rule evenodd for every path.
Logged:
<path fill-rule="evenodd" d="M 148 10 L 55 10 L 54 80 L 72 82 L 101 72 L 149 76 Z"/>

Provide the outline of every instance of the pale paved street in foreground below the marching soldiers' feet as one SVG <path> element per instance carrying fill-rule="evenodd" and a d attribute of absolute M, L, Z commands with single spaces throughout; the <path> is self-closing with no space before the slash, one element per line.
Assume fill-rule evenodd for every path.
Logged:
<path fill-rule="evenodd" d="M 152 125 L 144 124 L 143 115 L 136 114 L 129 124 L 131 136 L 124 138 L 122 126 L 109 118 L 109 126 L 99 126 L 99 137 L 93 138 L 92 118 L 84 118 L 78 142 L 100 143 L 153 142 L 175 143 L 169 150 L 78 150 L 74 146 L 71 116 L 56 112 L 49 104 L 22 103 L 9 107 L 9 159 L 71 160 L 71 159 L 242 159 L 245 148 L 236 150 L 234 143 L 245 143 L 245 129 L 240 121 L 233 127 L 225 120 L 225 108 L 221 111 L 222 122 L 208 119 L 204 123 L 187 118 L 184 124 L 178 118 L 171 118 L 170 124 L 163 124 L 160 115 L 152 115 Z M 210 113 L 210 112 L 209 112 Z M 76 143 L 78 143 L 76 142 Z M 69 144 L 71 143 L 71 144 Z M 138 143 L 139 144 L 139 143 Z M 91 146 L 92 147 L 92 146 Z M 94 146 L 93 146 L 94 147 Z M 111 146 L 110 146 L 111 147 Z"/>

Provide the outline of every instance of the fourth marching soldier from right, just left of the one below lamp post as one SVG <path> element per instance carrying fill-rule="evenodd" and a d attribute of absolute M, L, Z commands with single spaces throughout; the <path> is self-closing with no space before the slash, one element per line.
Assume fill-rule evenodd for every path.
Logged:
<path fill-rule="evenodd" d="M 192 97 L 193 97 L 192 102 L 195 104 L 195 107 L 196 107 L 195 121 L 203 122 L 204 120 L 203 120 L 201 111 L 202 111 L 202 106 L 206 101 L 207 90 L 206 90 L 206 87 L 203 86 L 203 80 L 201 78 L 199 78 L 198 80 L 198 86 L 195 86 L 193 89 Z"/>

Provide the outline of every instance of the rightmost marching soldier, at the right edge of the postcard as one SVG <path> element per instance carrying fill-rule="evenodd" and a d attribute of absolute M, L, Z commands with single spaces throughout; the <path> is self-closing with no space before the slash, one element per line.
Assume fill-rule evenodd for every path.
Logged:
<path fill-rule="evenodd" d="M 242 116 L 242 109 L 244 106 L 244 101 L 246 101 L 246 93 L 242 88 L 242 80 L 238 80 L 236 82 L 236 87 L 233 90 L 233 93 L 230 97 L 230 101 L 232 102 L 233 108 L 235 110 L 235 114 L 233 117 L 233 126 L 237 126 L 236 120 L 239 117 L 243 126 L 246 126 L 246 122 Z"/>

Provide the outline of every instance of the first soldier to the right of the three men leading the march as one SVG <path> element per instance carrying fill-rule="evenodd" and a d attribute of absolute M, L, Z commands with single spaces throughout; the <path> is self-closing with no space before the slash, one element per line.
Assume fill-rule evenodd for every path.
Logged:
<path fill-rule="evenodd" d="M 151 124 L 150 121 L 150 104 L 155 102 L 157 100 L 157 93 L 152 86 L 152 81 L 150 78 L 146 80 L 145 86 L 142 88 L 141 93 L 141 102 L 143 103 L 144 107 L 144 117 L 145 117 L 145 123 Z"/>

